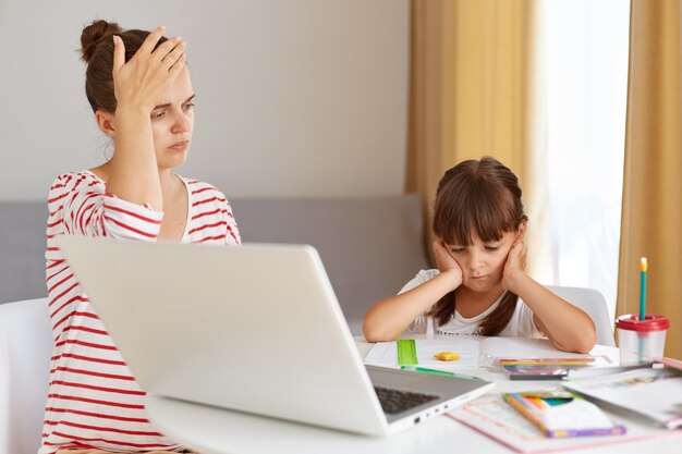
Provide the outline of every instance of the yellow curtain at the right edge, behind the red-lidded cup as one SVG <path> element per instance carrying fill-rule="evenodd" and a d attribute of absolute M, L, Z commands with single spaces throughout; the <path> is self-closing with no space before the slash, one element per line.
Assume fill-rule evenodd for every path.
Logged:
<path fill-rule="evenodd" d="M 682 29 L 679 0 L 632 0 L 617 315 L 640 311 L 640 257 L 648 259 L 647 312 L 671 322 L 666 355 L 682 357 Z"/>

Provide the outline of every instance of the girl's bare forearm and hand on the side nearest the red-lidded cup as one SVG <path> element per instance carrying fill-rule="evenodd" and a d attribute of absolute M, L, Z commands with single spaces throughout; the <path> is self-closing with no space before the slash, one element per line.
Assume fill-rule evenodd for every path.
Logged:
<path fill-rule="evenodd" d="M 533 310 L 533 321 L 564 352 L 588 353 L 596 343 L 597 331 L 592 318 L 537 283 L 523 270 L 526 247 L 516 243 L 504 266 L 502 285 L 515 293 Z"/>

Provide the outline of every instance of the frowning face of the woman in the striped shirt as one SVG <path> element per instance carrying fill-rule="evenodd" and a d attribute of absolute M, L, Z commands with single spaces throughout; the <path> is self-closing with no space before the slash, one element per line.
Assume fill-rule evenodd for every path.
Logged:
<path fill-rule="evenodd" d="M 194 130 L 194 88 L 185 66 L 151 111 L 154 149 L 159 169 L 183 164 Z"/>

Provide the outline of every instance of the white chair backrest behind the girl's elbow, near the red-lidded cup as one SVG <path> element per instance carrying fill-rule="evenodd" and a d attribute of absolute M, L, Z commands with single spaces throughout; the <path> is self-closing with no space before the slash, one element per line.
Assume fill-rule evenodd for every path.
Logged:
<path fill-rule="evenodd" d="M 583 309 L 597 328 L 597 344 L 616 346 L 613 339 L 613 320 L 609 318 L 609 310 L 606 307 L 606 299 L 601 293 L 594 289 L 565 287 L 559 285 L 547 285 L 557 295 L 561 296 L 573 306 Z"/>

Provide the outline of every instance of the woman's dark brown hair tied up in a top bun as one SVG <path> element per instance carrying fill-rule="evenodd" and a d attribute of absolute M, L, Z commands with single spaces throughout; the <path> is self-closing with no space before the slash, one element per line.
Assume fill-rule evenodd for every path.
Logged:
<path fill-rule="evenodd" d="M 115 112 L 117 99 L 113 93 L 113 35 L 118 35 L 125 46 L 125 61 L 133 58 L 145 38 L 147 30 L 123 30 L 115 22 L 94 21 L 81 34 L 81 59 L 87 63 L 85 70 L 85 94 L 93 112 L 103 110 Z M 161 42 L 168 38 L 161 37 Z"/>

